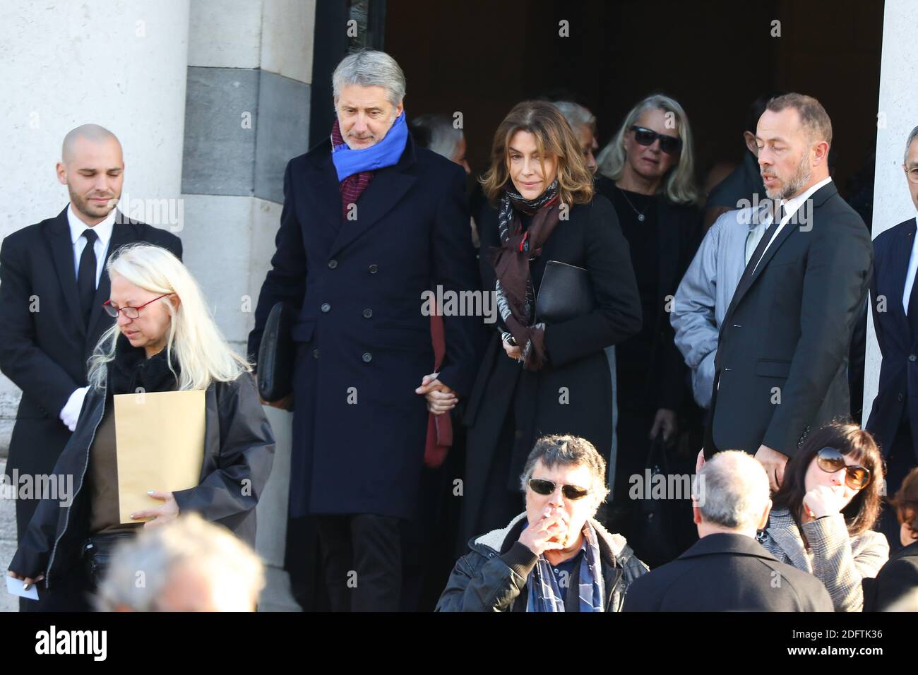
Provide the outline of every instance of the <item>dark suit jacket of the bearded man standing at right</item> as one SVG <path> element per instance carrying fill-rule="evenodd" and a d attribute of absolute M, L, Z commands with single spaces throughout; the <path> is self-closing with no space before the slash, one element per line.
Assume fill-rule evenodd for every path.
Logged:
<path fill-rule="evenodd" d="M 812 222 L 789 221 L 741 279 L 714 360 L 713 446 L 794 456 L 807 433 L 850 415 L 848 349 L 867 300 L 873 247 L 834 183 L 812 197 Z"/>

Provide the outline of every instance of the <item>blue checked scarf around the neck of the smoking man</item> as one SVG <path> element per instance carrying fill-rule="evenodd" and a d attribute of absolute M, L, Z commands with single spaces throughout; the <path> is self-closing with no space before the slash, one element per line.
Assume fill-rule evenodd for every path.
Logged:
<path fill-rule="evenodd" d="M 599 560 L 599 534 L 589 522 L 583 528 L 583 544 L 580 554 L 580 578 L 577 584 L 577 599 L 581 612 L 605 612 L 605 584 Z M 529 598 L 527 612 L 564 612 L 558 579 L 552 573 L 552 566 L 539 556 L 535 567 L 526 579 Z M 568 593 L 574 589 L 568 589 Z"/>

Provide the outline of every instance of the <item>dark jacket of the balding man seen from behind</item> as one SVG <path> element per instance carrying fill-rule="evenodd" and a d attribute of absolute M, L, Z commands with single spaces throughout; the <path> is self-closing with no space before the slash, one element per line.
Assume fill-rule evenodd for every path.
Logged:
<path fill-rule="evenodd" d="M 625 612 L 832 612 L 823 583 L 745 534 L 708 534 L 635 579 Z"/>

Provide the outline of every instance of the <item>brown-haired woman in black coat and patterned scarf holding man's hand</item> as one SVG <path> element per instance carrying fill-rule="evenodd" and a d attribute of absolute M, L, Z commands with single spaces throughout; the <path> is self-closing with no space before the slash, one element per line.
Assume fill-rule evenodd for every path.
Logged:
<path fill-rule="evenodd" d="M 467 536 L 521 512 L 522 467 L 541 436 L 571 433 L 608 455 L 612 388 L 603 349 L 641 328 L 628 244 L 609 201 L 593 196 L 592 175 L 557 108 L 526 101 L 510 110 L 482 184 L 491 205 L 479 224 L 483 287 L 494 289 L 498 321 L 465 417 Z M 540 292 L 573 293 L 543 288 L 550 261 L 586 270 L 592 310 L 554 322 L 536 315 Z"/>

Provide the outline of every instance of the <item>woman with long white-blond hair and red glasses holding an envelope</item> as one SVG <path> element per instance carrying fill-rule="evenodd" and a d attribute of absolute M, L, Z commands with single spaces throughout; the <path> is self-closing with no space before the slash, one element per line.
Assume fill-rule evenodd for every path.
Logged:
<path fill-rule="evenodd" d="M 46 596 L 47 611 L 89 610 L 114 546 L 185 512 L 254 546 L 255 505 L 274 459 L 274 434 L 251 367 L 232 353 L 178 258 L 158 246 L 132 245 L 113 254 L 107 269 L 106 310 L 118 318 L 90 359 L 83 410 L 54 467 L 55 477 L 72 478 L 72 492 L 41 501 L 9 565 L 9 576 L 27 585 L 44 581 L 39 597 Z M 198 484 L 172 492 L 149 486 L 151 508 L 122 523 L 114 395 L 200 389 L 205 440 Z M 157 420 L 148 433 L 169 422 Z"/>

